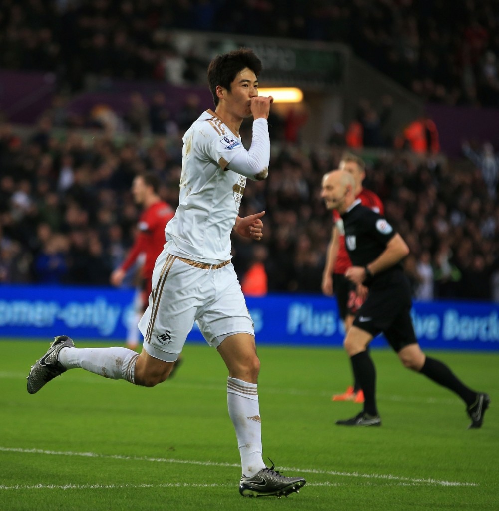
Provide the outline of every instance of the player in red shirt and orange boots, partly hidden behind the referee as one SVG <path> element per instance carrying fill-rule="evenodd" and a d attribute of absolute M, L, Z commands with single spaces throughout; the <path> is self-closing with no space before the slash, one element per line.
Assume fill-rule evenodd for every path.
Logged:
<path fill-rule="evenodd" d="M 362 182 L 366 177 L 365 162 L 359 156 L 345 153 L 341 158 L 339 168 L 349 172 L 355 179 L 355 196 L 361 200 L 364 206 L 372 211 L 384 213 L 383 202 L 371 190 L 363 188 Z M 333 229 L 331 240 L 326 254 L 326 264 L 322 273 L 322 292 L 327 296 L 336 295 L 340 317 L 343 321 L 345 332 L 348 332 L 354 321 L 355 314 L 364 303 L 367 290 L 361 286 L 359 289 L 346 277 L 345 272 L 352 266 L 350 256 L 345 247 L 345 231 L 343 220 L 337 210 L 333 210 Z M 354 384 L 348 386 L 342 394 L 335 394 L 333 401 L 364 402 L 364 392 L 354 376 Z"/>

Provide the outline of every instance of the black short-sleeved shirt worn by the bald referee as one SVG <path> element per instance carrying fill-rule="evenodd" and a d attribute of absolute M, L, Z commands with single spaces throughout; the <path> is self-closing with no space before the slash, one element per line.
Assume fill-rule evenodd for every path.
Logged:
<path fill-rule="evenodd" d="M 345 246 L 354 266 L 367 266 L 385 250 L 388 242 L 396 234 L 393 227 L 379 213 L 363 206 L 357 199 L 350 209 L 341 215 L 345 229 Z M 395 275 L 403 273 L 402 263 L 398 262 L 385 271 L 377 273 L 368 287 L 382 282 L 392 282 Z"/>

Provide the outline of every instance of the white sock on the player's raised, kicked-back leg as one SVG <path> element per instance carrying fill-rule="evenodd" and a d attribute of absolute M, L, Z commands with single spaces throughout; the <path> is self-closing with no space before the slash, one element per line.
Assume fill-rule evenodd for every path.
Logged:
<path fill-rule="evenodd" d="M 66 369 L 82 367 L 91 373 L 135 383 L 135 362 L 139 354 L 128 348 L 63 348 L 58 360 Z"/>

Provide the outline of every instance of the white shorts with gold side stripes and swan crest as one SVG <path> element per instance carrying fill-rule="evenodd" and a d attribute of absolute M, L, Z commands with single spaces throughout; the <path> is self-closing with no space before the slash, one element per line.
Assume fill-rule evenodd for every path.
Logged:
<path fill-rule="evenodd" d="M 163 250 L 153 272 L 153 291 L 139 321 L 144 350 L 174 362 L 197 323 L 210 346 L 231 334 L 255 335 L 253 321 L 230 261 L 205 265 Z"/>

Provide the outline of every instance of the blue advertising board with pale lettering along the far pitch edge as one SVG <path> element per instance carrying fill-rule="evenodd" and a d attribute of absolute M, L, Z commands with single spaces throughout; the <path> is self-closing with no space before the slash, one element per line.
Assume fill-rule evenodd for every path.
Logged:
<path fill-rule="evenodd" d="M 134 321 L 131 290 L 0 286 L 0 337 L 124 339 Z M 340 346 L 344 330 L 336 300 L 319 295 L 248 298 L 260 343 Z M 423 348 L 499 350 L 499 306 L 465 302 L 414 303 Z M 203 341 L 194 327 L 190 341 Z M 383 345 L 383 341 L 381 344 Z"/>

